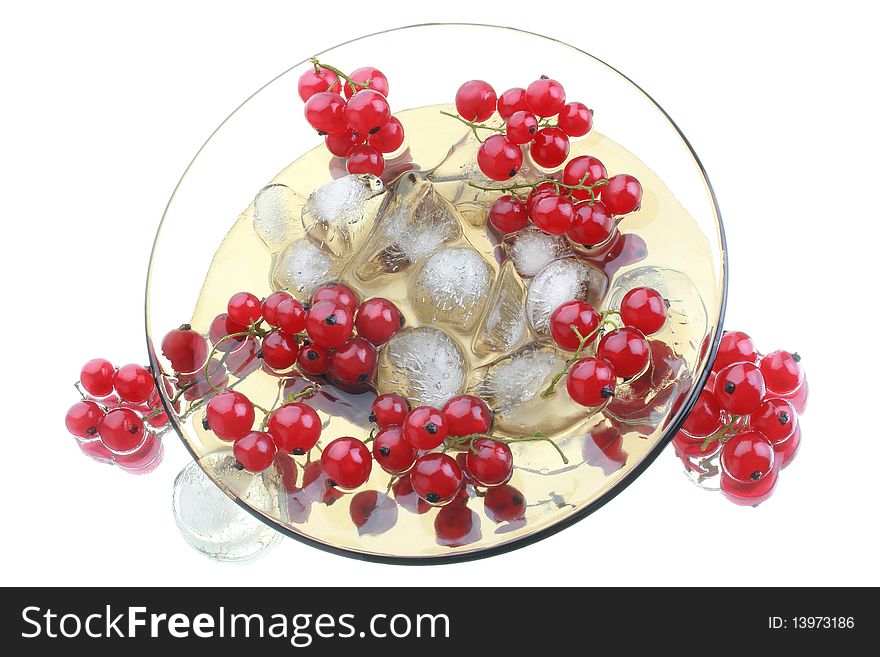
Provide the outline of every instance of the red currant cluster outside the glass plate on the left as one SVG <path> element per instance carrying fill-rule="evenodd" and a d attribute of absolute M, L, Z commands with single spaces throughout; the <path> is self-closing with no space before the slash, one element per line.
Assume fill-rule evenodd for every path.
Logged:
<path fill-rule="evenodd" d="M 149 369 L 134 364 L 116 369 L 94 358 L 83 365 L 76 387 L 82 400 L 67 411 L 65 424 L 87 456 L 132 474 L 159 465 L 160 430 L 168 415 Z"/>

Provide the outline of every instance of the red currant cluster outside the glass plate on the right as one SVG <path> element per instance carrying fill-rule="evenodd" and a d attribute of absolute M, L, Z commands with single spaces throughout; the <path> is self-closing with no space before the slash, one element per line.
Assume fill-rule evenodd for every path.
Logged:
<path fill-rule="evenodd" d="M 712 374 L 673 445 L 685 467 L 701 477 L 713 474 L 717 457 L 722 492 L 736 504 L 755 506 L 770 497 L 779 471 L 797 453 L 798 416 L 806 403 L 797 354 L 761 356 L 748 335 L 725 331 Z"/>

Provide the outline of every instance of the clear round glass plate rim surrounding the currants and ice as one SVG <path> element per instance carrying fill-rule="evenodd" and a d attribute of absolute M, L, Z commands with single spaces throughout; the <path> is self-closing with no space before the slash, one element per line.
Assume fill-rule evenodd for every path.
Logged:
<path fill-rule="evenodd" d="M 487 47 L 463 46 L 469 43 Z M 303 488 L 304 457 L 295 467 L 269 473 L 271 501 L 262 496 L 255 504 L 244 494 L 246 473 L 212 465 L 223 460 L 218 451 L 229 446 L 206 438 L 199 412 L 187 414 L 184 407 L 178 413 L 166 397 L 175 429 L 207 475 L 243 508 L 283 534 L 347 556 L 398 563 L 478 558 L 526 545 L 586 517 L 631 483 L 672 438 L 714 359 L 724 317 L 726 253 L 718 207 L 696 154 L 663 109 L 631 80 L 582 50 L 528 32 L 412 26 L 339 45 L 320 59 L 342 68 L 381 69 L 391 81 L 395 114 L 449 103 L 466 78 L 488 80 L 500 92 L 544 73 L 562 81 L 570 99 L 594 108 L 594 130 L 645 163 L 643 175 L 650 178 L 643 181 L 642 210 L 622 225 L 624 233 L 645 240 L 647 258 L 613 274 L 606 305 L 637 284 L 666 286 L 672 315 L 654 353 L 662 368 L 648 389 L 622 386 L 614 404 L 565 439 L 567 466 L 549 447 L 526 454 L 526 446 L 518 446 L 521 467 L 512 488 L 491 498 L 480 491 L 464 510 L 419 509 L 399 485 L 389 487 L 390 476 L 378 467 L 359 492 L 327 494 L 316 491 L 314 483 Z M 193 317 L 205 275 L 236 218 L 273 177 L 320 145 L 302 119 L 297 95 L 297 80 L 309 66 L 307 60 L 297 64 L 236 109 L 174 190 L 153 246 L 146 290 L 147 344 L 157 372 L 169 371 L 160 355 L 162 336 Z M 652 180 L 688 218 L 684 229 L 664 229 L 664 206 L 652 200 Z M 265 290 L 252 291 L 268 291 L 268 281 L 263 285 Z M 245 287 L 233 283 L 228 293 Z M 360 430 L 365 437 L 369 427 Z M 511 504 L 525 505 L 522 517 L 503 520 Z"/>

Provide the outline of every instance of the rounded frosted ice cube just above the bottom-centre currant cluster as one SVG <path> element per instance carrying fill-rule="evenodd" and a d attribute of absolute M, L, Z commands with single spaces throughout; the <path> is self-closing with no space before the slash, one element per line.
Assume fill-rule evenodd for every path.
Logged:
<path fill-rule="evenodd" d="M 380 394 L 399 393 L 415 406 L 442 406 L 464 392 L 467 375 L 462 348 L 438 328 L 399 331 L 379 352 Z"/>

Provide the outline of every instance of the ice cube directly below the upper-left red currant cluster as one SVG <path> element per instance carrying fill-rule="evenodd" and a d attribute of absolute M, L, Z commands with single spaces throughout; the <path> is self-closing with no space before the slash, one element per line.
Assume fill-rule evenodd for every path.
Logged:
<path fill-rule="evenodd" d="M 360 248 L 375 225 L 385 187 L 376 176 L 347 175 L 318 187 L 302 210 L 306 234 L 336 256 Z"/>

